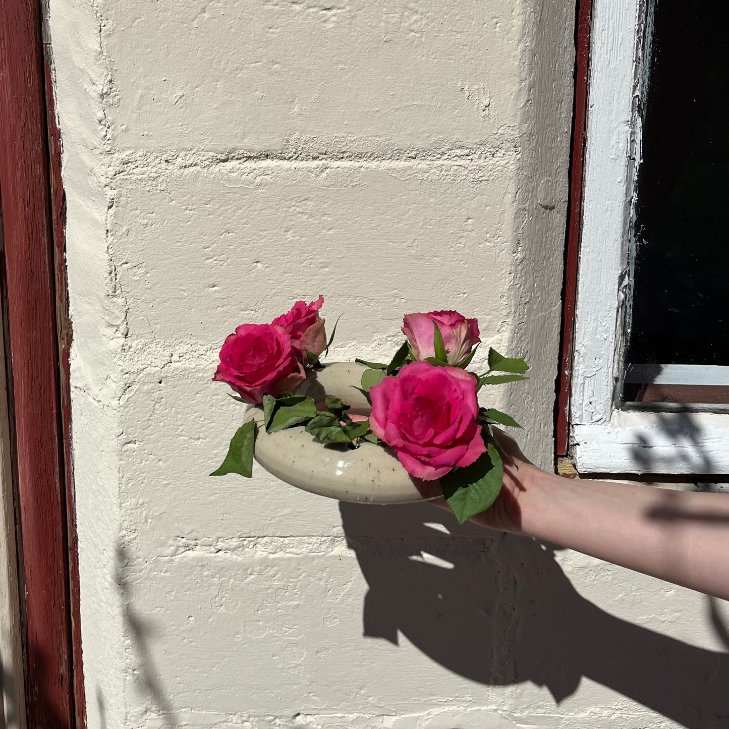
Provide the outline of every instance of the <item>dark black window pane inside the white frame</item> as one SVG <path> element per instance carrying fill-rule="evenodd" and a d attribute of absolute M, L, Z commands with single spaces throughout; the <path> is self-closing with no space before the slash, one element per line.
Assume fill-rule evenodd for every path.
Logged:
<path fill-rule="evenodd" d="M 628 363 L 729 365 L 728 21 L 655 1 Z"/>

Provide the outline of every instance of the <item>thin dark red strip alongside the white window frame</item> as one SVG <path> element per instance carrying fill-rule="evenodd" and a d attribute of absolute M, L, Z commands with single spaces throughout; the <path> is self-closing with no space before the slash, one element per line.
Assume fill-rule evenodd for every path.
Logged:
<path fill-rule="evenodd" d="M 556 455 L 566 456 L 569 445 L 569 393 L 572 388 L 574 308 L 577 299 L 577 263 L 580 260 L 582 230 L 582 180 L 585 167 L 585 130 L 590 68 L 590 17 L 592 0 L 577 0 L 575 28 L 574 114 L 572 159 L 569 169 L 567 243 L 562 292 L 562 342 L 555 423 Z"/>

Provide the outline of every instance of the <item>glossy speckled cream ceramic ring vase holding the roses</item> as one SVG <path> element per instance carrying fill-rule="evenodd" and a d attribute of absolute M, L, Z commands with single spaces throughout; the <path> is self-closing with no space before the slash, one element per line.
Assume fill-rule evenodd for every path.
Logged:
<path fill-rule="evenodd" d="M 326 395 L 339 397 L 351 406 L 351 413 L 367 415 L 370 403 L 359 390 L 366 369 L 356 362 L 332 362 L 308 373 L 297 393 L 309 395 L 315 402 L 323 402 Z M 246 413 L 246 420 L 252 418 L 259 426 L 255 459 L 291 486 L 330 499 L 367 504 L 402 504 L 440 496 L 437 481 L 413 478 L 394 452 L 382 445 L 323 445 L 303 426 L 267 433 L 260 407 Z"/>

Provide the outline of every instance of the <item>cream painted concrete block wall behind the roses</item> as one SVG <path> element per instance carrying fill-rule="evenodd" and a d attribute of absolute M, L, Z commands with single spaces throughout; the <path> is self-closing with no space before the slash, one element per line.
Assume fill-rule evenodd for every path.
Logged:
<path fill-rule="evenodd" d="M 407 311 L 477 316 L 531 360 L 494 405 L 550 463 L 572 6 L 50 0 L 90 728 L 711 711 L 698 678 L 666 690 L 671 661 L 714 666 L 687 590 L 428 506 L 207 477 L 240 418 L 219 343 L 319 293 L 332 359 L 391 351 Z"/>

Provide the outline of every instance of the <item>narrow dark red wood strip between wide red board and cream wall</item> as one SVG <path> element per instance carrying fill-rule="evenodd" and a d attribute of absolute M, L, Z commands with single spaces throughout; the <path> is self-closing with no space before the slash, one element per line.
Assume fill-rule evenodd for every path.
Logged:
<path fill-rule="evenodd" d="M 53 98 L 52 50 L 44 45 L 46 122 L 50 172 L 51 225 L 55 273 L 56 329 L 60 367 L 61 426 L 63 464 L 66 481 L 66 525 L 69 545 L 69 588 L 71 590 L 71 640 L 73 644 L 74 701 L 76 725 L 86 729 L 86 695 L 81 649 L 81 594 L 79 587 L 79 548 L 76 532 L 76 494 L 74 491 L 74 454 L 71 440 L 70 353 L 73 329 L 69 316 L 69 284 L 66 277 L 66 193 L 61 179 L 61 132 L 55 118 Z"/>

